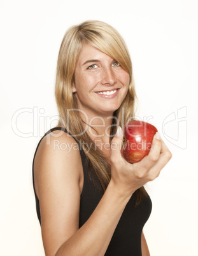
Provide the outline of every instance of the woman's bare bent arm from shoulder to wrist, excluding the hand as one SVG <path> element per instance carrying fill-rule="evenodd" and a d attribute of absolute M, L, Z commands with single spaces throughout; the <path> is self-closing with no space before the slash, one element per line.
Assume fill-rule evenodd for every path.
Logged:
<path fill-rule="evenodd" d="M 59 138 L 47 136 L 42 139 L 34 162 L 46 256 L 104 255 L 130 197 L 120 196 L 110 183 L 94 213 L 79 229 L 83 173 L 80 152 L 76 141 L 66 133 Z M 46 145 L 49 138 L 50 145 Z M 69 151 L 55 145 L 67 145 Z"/>

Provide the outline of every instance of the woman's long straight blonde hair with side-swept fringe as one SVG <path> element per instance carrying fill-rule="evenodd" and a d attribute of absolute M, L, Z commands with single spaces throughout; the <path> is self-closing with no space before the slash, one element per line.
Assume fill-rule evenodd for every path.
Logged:
<path fill-rule="evenodd" d="M 115 118 L 112 120 L 111 137 L 117 131 L 118 125 L 123 127 L 130 118 L 134 117 L 136 92 L 132 77 L 132 63 L 122 36 L 111 25 L 98 20 L 88 20 L 80 25 L 74 25 L 67 30 L 60 45 L 55 82 L 55 99 L 60 116 L 58 125 L 64 125 L 73 136 L 78 134 L 76 139 L 79 143 L 81 141 L 86 142 L 83 143 L 83 150 L 90 164 L 94 167 L 101 187 L 105 190 L 111 176 L 110 164 L 106 161 L 103 152 L 93 145 L 92 139 L 84 131 L 83 121 L 78 111 L 76 111 L 78 106 L 72 92 L 76 62 L 83 43 L 88 43 L 117 60 L 122 68 L 129 73 L 129 90 L 120 108 L 113 115 Z M 141 190 L 143 189 L 141 188 Z"/>

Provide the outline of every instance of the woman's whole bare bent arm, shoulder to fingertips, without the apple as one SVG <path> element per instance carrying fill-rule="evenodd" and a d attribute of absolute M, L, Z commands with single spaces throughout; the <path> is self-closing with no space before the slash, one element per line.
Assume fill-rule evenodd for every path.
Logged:
<path fill-rule="evenodd" d="M 171 155 L 166 145 L 155 138 L 150 155 L 129 164 L 120 153 L 122 136 L 113 138 L 111 181 L 90 218 L 78 229 L 83 171 L 80 152 L 71 147 L 75 141 L 67 134 L 59 138 L 59 143 L 69 145 L 69 152 L 54 148 L 54 140 L 52 137 L 50 145 L 43 140 L 35 166 L 46 256 L 104 255 L 133 192 L 156 178 Z"/>

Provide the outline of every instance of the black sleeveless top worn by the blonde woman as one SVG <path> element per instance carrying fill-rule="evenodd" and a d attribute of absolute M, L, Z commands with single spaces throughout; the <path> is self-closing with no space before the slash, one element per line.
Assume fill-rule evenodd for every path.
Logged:
<path fill-rule="evenodd" d="M 55 127 L 50 129 L 46 134 L 55 131 L 62 130 L 67 132 L 63 127 Z M 45 137 L 46 134 L 43 136 Z M 69 134 L 69 132 L 67 132 Z M 69 134 L 71 135 L 71 134 Z M 72 135 L 71 135 L 72 136 Z M 43 137 L 41 139 L 43 139 Z M 73 136 L 72 136 L 73 137 Z M 73 137 L 74 138 L 74 137 Z M 41 139 L 39 143 L 41 142 Z M 75 138 L 74 138 L 75 139 Z M 76 140 L 76 139 L 75 139 Z M 78 143 L 78 141 L 76 140 Z M 39 146 L 38 143 L 38 146 Z M 38 150 L 36 148 L 36 152 Z M 79 217 L 79 228 L 85 224 L 90 215 L 92 215 L 95 207 L 103 197 L 103 192 L 99 190 L 99 180 L 94 172 L 94 169 L 88 164 L 85 153 L 83 152 L 80 143 L 78 143 L 80 148 L 81 161 L 83 165 L 83 174 L 84 174 L 84 183 L 83 190 L 80 197 L 80 217 Z M 34 159 L 36 152 L 34 153 Z M 41 224 L 41 216 L 39 210 L 39 199 L 36 196 L 36 191 L 34 187 L 34 159 L 32 162 L 32 179 L 33 179 L 33 188 L 34 195 L 36 199 L 36 211 L 38 215 L 39 222 Z M 90 180 L 88 173 L 92 171 L 94 175 L 94 180 Z M 94 182 L 93 182 L 94 181 Z M 141 256 L 141 232 L 143 227 L 150 217 L 152 211 L 152 201 L 149 196 L 143 197 L 142 201 L 138 206 L 136 205 L 136 197 L 133 194 L 125 210 L 122 213 L 122 216 L 118 222 L 118 225 L 115 229 L 113 237 L 111 238 L 110 245 L 106 250 L 106 256 Z"/>

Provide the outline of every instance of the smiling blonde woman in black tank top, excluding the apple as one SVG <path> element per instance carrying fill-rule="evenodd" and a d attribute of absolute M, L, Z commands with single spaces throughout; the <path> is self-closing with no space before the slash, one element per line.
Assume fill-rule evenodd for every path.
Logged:
<path fill-rule="evenodd" d="M 136 93 L 124 40 L 108 24 L 71 27 L 60 46 L 55 97 L 60 120 L 36 148 L 33 181 L 47 256 L 148 256 L 152 210 L 143 187 L 171 159 L 159 133 L 143 160 L 120 153 Z"/>

